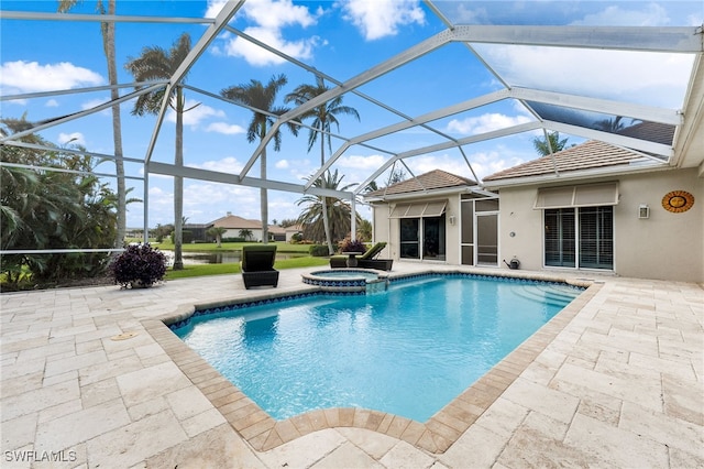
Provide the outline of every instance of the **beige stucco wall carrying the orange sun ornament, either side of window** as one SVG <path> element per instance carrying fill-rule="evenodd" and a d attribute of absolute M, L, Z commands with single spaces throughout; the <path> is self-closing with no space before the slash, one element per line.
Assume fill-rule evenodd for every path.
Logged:
<path fill-rule="evenodd" d="M 614 179 L 619 182 L 619 203 L 614 207 L 614 272 L 640 279 L 704 282 L 704 184 L 696 168 L 608 178 Z M 506 260 L 516 255 L 521 269 L 558 269 L 543 268 L 542 210 L 532 208 L 538 187 L 499 190 L 499 252 Z M 667 211 L 661 200 L 671 190 L 691 193 L 694 206 L 681 214 Z M 650 207 L 650 218 L 638 218 L 641 204 Z"/>

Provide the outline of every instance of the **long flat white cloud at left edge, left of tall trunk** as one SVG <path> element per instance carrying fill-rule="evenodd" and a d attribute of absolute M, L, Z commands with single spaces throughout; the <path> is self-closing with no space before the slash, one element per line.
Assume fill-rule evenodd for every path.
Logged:
<path fill-rule="evenodd" d="M 105 80 L 88 68 L 68 62 L 40 65 L 37 62 L 6 62 L 0 65 L 3 92 L 36 92 L 96 86 Z"/>

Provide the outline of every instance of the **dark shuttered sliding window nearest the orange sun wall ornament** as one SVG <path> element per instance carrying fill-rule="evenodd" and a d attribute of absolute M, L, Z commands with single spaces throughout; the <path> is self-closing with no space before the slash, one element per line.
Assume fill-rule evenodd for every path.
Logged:
<path fill-rule="evenodd" d="M 546 209 L 544 263 L 614 269 L 614 207 Z"/>

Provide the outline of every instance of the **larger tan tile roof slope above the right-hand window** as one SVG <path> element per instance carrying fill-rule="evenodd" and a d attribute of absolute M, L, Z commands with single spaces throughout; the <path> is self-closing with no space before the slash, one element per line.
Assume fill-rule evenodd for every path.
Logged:
<path fill-rule="evenodd" d="M 541 176 L 558 172 L 593 170 L 597 167 L 628 165 L 631 161 L 642 157 L 638 153 L 615 146 L 605 142 L 590 140 L 580 145 L 571 146 L 552 156 L 542 156 L 518 166 L 509 167 L 484 177 L 484 181 L 512 179 L 528 176 Z M 553 166 L 554 160 L 554 166 Z"/>

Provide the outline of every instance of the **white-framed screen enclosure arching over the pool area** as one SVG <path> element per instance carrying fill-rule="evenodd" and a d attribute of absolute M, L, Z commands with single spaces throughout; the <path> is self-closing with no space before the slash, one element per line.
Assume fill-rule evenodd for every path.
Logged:
<path fill-rule="evenodd" d="M 364 210 L 358 196 L 399 171 L 415 178 L 441 168 L 481 186 L 537 157 L 534 140 L 551 132 L 630 149 L 640 164 L 703 171 L 701 0 L 1 8 L 2 118 L 23 124 L 3 131 L 0 149 L 90 156 L 100 181 L 124 182 L 136 199 L 127 226 L 145 236 L 173 222 L 175 201 L 193 222 L 226 210 L 254 218 L 262 188 L 270 217 L 280 219 L 296 216 L 304 195 Z M 140 68 L 147 48 L 172 68 Z M 273 99 L 232 91 L 276 80 Z M 327 89 L 294 99 L 301 85 Z M 331 119 L 321 122 L 321 108 Z M 256 114 L 267 123 L 250 127 Z M 2 159 L 4 167 L 40 164 Z M 319 183 L 336 171 L 340 184 Z"/>

